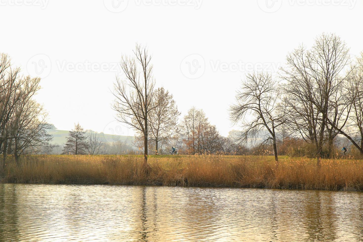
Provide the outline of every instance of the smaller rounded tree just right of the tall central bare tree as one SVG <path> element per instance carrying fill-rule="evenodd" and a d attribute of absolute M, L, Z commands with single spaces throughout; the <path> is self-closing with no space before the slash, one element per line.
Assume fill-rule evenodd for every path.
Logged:
<path fill-rule="evenodd" d="M 151 141 L 155 143 L 155 155 L 159 153 L 159 142 L 167 141 L 178 132 L 178 107 L 173 95 L 165 91 L 163 87 L 155 90 L 152 97 L 152 106 L 149 112 Z M 165 143 L 165 142 L 164 142 Z"/>

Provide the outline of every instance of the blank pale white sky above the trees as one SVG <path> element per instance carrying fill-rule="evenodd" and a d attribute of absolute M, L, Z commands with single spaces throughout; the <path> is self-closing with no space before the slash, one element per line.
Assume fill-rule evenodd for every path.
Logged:
<path fill-rule="evenodd" d="M 0 52 L 40 75 L 49 122 L 133 135 L 115 122 L 117 63 L 138 42 L 152 54 L 156 86 L 182 115 L 196 106 L 227 136 L 228 107 L 246 71 L 276 72 L 286 54 L 334 32 L 363 51 L 361 0 L 0 0 Z M 121 75 L 122 77 L 122 75 Z"/>

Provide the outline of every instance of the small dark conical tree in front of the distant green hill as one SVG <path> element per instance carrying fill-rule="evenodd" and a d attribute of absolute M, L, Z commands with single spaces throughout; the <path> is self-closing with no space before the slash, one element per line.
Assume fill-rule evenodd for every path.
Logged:
<path fill-rule="evenodd" d="M 63 154 L 85 155 L 88 149 L 86 131 L 77 123 L 74 129 L 69 131 L 67 142 L 63 147 Z"/>

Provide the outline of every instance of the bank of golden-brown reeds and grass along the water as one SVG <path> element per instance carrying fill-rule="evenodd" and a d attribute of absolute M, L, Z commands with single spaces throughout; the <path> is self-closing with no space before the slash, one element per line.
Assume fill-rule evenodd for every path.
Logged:
<path fill-rule="evenodd" d="M 30 156 L 8 161 L 3 182 L 53 184 L 177 185 L 278 189 L 363 190 L 362 160 L 272 156 Z"/>

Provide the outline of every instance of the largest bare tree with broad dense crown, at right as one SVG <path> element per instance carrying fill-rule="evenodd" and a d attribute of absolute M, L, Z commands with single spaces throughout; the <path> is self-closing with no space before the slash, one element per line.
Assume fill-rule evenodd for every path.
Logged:
<path fill-rule="evenodd" d="M 335 34 L 322 34 L 311 50 L 300 47 L 289 54 L 288 69 L 283 69 L 290 120 L 315 144 L 318 165 L 326 139 L 330 150 L 337 134 L 351 140 L 344 132 L 350 104 L 342 90 L 347 80 L 343 71 L 350 61 L 348 50 Z M 304 138 L 303 132 L 301 136 Z"/>

